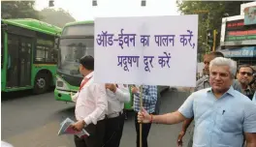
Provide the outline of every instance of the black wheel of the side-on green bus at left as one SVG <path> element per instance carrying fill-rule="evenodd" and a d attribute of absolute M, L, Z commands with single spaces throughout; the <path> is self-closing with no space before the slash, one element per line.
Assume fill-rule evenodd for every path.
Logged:
<path fill-rule="evenodd" d="M 42 94 L 48 91 L 49 76 L 47 73 L 38 73 L 35 78 L 33 92 L 35 94 Z"/>

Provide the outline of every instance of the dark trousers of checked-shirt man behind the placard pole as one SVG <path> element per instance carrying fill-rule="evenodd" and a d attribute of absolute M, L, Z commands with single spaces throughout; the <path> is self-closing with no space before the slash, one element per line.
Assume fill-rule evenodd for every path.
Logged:
<path fill-rule="evenodd" d="M 140 124 L 138 123 L 138 118 L 137 118 L 138 112 L 135 113 L 135 128 L 137 132 L 137 147 L 140 147 Z M 147 147 L 147 136 L 150 131 L 151 124 L 143 124 L 143 133 L 142 133 L 142 141 L 143 141 L 143 147 Z"/>

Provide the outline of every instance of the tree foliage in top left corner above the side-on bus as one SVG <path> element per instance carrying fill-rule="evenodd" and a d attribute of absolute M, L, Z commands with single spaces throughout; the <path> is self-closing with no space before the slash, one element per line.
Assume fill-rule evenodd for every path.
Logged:
<path fill-rule="evenodd" d="M 40 19 L 39 12 L 34 10 L 34 1 L 2 1 L 2 18 L 35 18 Z"/>

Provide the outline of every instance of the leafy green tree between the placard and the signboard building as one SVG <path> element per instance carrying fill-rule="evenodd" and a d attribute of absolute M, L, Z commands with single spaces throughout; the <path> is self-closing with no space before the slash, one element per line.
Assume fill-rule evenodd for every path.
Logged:
<path fill-rule="evenodd" d="M 182 15 L 199 15 L 199 53 L 209 51 L 207 48 L 207 30 L 216 29 L 216 46 L 220 42 L 222 17 L 240 15 L 242 1 L 180 1 L 176 0 L 178 10 Z"/>

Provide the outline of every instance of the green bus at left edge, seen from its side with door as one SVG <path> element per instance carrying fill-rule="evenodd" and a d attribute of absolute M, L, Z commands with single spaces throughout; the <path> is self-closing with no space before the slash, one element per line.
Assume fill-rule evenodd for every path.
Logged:
<path fill-rule="evenodd" d="M 44 93 L 55 85 L 61 28 L 36 19 L 1 19 L 1 90 L 33 89 Z"/>

